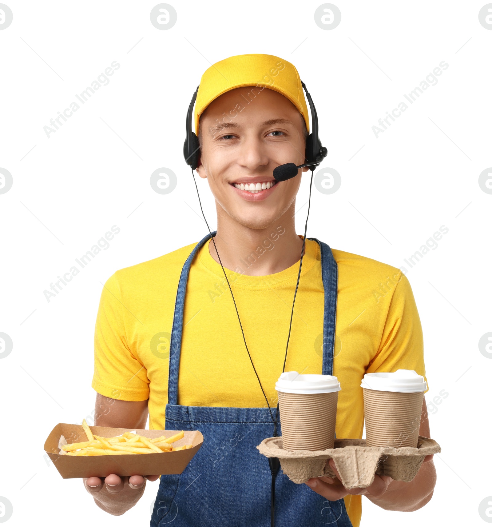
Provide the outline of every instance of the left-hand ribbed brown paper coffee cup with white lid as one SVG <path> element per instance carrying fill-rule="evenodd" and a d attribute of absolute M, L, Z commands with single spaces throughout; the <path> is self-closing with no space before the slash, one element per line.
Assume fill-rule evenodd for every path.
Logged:
<path fill-rule="evenodd" d="M 337 377 L 286 372 L 275 389 L 284 450 L 333 448 L 340 390 Z"/>

